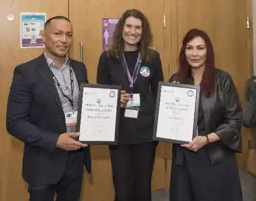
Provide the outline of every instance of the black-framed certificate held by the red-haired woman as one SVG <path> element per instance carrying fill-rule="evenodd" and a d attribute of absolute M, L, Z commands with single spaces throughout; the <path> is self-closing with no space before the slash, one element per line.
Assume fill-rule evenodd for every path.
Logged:
<path fill-rule="evenodd" d="M 199 86 L 160 82 L 153 140 L 189 143 L 197 136 Z"/>

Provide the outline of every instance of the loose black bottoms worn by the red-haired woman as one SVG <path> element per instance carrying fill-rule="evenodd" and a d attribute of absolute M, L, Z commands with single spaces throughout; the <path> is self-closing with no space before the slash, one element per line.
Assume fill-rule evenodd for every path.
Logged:
<path fill-rule="evenodd" d="M 212 165 L 208 152 L 183 150 L 182 164 L 172 161 L 170 201 L 242 201 L 235 154 Z"/>

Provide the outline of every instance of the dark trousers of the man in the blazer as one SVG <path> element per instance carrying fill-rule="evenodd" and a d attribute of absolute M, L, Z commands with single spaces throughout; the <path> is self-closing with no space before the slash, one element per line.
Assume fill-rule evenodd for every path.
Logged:
<path fill-rule="evenodd" d="M 30 185 L 30 201 L 77 201 L 80 198 L 84 164 L 82 153 L 69 153 L 65 173 L 58 183 L 53 185 Z"/>

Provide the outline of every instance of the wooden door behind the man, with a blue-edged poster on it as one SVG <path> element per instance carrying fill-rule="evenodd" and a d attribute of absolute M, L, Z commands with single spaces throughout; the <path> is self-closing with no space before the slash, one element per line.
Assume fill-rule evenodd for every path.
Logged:
<path fill-rule="evenodd" d="M 46 12 L 47 18 L 54 15 L 68 16 L 68 0 L 1 0 L 0 3 L 1 33 L 1 96 L 0 96 L 0 200 L 28 200 L 27 186 L 21 177 L 23 143 L 7 134 L 5 114 L 7 96 L 12 82 L 14 67 L 21 62 L 29 61 L 40 54 L 42 48 L 20 48 L 20 12 Z M 13 21 L 7 16 L 14 15 Z"/>

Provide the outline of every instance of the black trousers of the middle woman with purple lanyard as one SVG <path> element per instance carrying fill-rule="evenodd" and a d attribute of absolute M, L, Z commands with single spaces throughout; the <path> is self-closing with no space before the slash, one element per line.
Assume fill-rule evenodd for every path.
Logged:
<path fill-rule="evenodd" d="M 157 142 L 109 146 L 115 201 L 151 201 Z"/>

